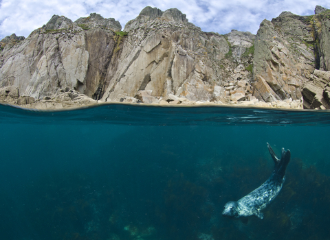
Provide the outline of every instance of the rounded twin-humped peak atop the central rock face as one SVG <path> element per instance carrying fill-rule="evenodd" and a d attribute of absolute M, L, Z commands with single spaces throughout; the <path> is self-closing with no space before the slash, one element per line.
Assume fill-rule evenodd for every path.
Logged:
<path fill-rule="evenodd" d="M 183 14 L 181 11 L 177 10 L 177 8 L 170 8 L 163 12 L 158 8 L 151 8 L 148 6 L 140 12 L 139 16 L 126 23 L 124 31 L 129 32 L 129 30 L 138 28 L 141 24 L 155 19 L 164 19 L 176 23 L 188 23 L 186 14 Z"/>

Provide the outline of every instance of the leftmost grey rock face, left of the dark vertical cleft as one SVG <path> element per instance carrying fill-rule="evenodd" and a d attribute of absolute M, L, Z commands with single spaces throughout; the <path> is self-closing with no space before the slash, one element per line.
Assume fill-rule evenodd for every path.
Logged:
<path fill-rule="evenodd" d="M 91 19 L 97 21 L 78 25 L 54 15 L 27 39 L 13 47 L 5 45 L 0 53 L 0 86 L 17 86 L 20 94 L 36 99 L 67 87 L 98 98 L 116 44 L 113 29 L 103 25 L 115 29 L 120 25 L 94 14 Z"/>

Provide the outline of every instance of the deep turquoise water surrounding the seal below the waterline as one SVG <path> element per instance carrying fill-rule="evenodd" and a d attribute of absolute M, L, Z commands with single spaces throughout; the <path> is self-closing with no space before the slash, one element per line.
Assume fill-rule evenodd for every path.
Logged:
<path fill-rule="evenodd" d="M 0 106 L 1 239 L 330 239 L 329 111 Z M 292 160 L 248 221 L 226 202 Z"/>

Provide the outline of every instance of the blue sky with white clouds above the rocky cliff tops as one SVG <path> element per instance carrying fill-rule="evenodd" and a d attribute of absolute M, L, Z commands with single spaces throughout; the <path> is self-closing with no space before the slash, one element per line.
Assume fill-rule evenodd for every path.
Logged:
<path fill-rule="evenodd" d="M 263 19 L 272 20 L 283 11 L 314 14 L 316 5 L 330 8 L 324 0 L 0 0 L 0 40 L 28 35 L 46 24 L 54 14 L 72 21 L 96 12 L 124 25 L 146 6 L 165 11 L 177 8 L 204 32 L 226 34 L 232 29 L 256 34 Z"/>

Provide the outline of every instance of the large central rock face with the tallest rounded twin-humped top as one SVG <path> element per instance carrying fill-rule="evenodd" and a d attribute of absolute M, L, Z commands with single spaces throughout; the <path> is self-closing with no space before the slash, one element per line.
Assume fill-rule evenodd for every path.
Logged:
<path fill-rule="evenodd" d="M 129 34 L 118 56 L 120 64 L 108 72 L 103 101 L 144 90 L 155 97 L 207 100 L 214 85 L 222 82 L 220 61 L 229 51 L 225 37 L 201 32 L 179 10 L 145 8 L 124 32 Z"/>

